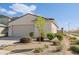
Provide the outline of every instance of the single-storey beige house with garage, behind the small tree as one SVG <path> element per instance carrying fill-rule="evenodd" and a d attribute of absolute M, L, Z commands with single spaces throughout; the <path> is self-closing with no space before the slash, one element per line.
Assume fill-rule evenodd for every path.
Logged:
<path fill-rule="evenodd" d="M 30 32 L 34 32 L 34 36 L 38 37 L 39 32 L 34 27 L 34 21 L 37 19 L 37 15 L 26 14 L 9 23 L 9 36 L 29 36 Z M 46 25 L 44 28 L 45 33 L 52 32 L 57 33 L 58 26 L 55 20 L 52 18 L 45 18 Z"/>

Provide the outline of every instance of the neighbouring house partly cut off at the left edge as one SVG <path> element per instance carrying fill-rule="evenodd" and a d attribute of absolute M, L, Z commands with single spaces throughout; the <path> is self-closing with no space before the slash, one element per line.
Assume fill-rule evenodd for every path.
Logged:
<path fill-rule="evenodd" d="M 8 32 L 10 17 L 0 15 L 0 36 L 5 36 Z"/>

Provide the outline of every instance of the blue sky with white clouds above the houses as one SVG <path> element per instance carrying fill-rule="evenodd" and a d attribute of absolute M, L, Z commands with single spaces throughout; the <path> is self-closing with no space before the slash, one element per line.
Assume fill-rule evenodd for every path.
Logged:
<path fill-rule="evenodd" d="M 79 27 L 79 4 L 25 3 L 0 4 L 0 14 L 21 16 L 26 13 L 56 19 L 58 26 L 65 30 Z"/>

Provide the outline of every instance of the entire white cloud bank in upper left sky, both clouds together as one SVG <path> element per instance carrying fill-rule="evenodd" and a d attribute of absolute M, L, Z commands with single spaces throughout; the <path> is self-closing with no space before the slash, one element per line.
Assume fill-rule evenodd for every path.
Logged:
<path fill-rule="evenodd" d="M 34 11 L 36 10 L 35 5 L 28 6 L 25 4 L 12 4 L 12 5 L 8 6 L 7 8 L 9 8 L 9 9 L 0 7 L 0 13 L 11 16 L 11 15 L 15 15 L 17 13 L 22 13 L 22 14 L 34 13 Z"/>

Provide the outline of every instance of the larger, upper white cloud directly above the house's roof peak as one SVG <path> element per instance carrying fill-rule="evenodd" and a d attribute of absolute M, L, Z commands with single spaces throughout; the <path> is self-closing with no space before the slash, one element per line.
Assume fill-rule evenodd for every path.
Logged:
<path fill-rule="evenodd" d="M 27 6 L 25 4 L 13 4 L 12 6 L 9 6 L 11 9 L 13 9 L 16 12 L 20 12 L 22 14 L 25 13 L 33 13 L 36 10 L 35 5 Z"/>

